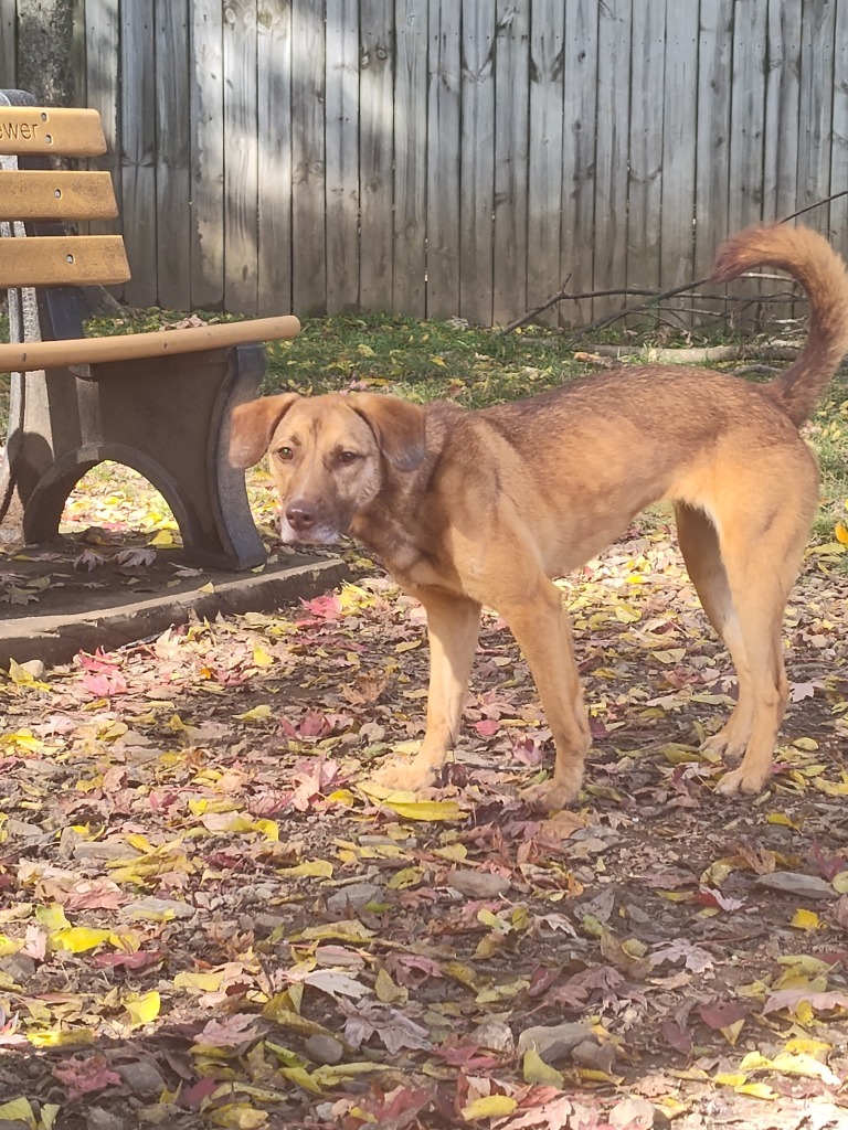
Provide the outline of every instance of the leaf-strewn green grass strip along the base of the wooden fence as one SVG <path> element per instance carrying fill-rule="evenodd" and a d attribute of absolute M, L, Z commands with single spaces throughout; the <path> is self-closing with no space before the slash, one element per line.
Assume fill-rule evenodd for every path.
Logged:
<path fill-rule="evenodd" d="M 231 321 L 228 315 L 204 314 L 210 321 Z M 179 323 L 185 314 L 174 311 L 137 310 L 119 319 L 97 319 L 88 323 L 89 333 L 131 333 Z M 632 330 L 621 337 L 607 330 L 597 339 L 620 341 L 629 349 L 646 349 L 655 344 L 665 347 L 732 344 L 719 338 L 661 341 L 650 336 L 638 338 Z M 751 340 L 749 362 L 751 356 Z M 581 373 L 592 372 L 597 363 L 586 358 L 594 341 L 581 340 L 583 358 L 576 357 L 574 345 L 561 333 L 536 325 L 509 334 L 459 321 L 422 322 L 389 315 L 336 315 L 304 321 L 301 333 L 291 341 L 274 341 L 267 347 L 268 365 L 265 392 L 293 389 L 304 394 L 347 389 L 374 389 L 393 392 L 418 403 L 450 399 L 468 408 L 516 400 L 562 384 Z M 722 366 L 724 367 L 724 366 Z M 762 380 L 762 377 L 756 377 Z M 0 389 L 5 411 L 6 395 Z M 822 505 L 813 537 L 817 542 L 832 541 L 837 523 L 848 524 L 848 373 L 837 375 L 816 412 L 810 440 L 822 470 Z"/>

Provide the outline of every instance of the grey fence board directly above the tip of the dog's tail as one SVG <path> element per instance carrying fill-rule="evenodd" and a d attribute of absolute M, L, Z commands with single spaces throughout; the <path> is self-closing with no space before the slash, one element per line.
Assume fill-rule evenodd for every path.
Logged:
<path fill-rule="evenodd" d="M 695 133 L 695 232 L 692 277 L 707 278 L 718 243 L 727 235 L 730 194 L 730 101 L 733 94 L 734 0 L 701 0 L 698 44 L 698 125 Z M 708 286 L 708 294 L 717 288 Z M 724 313 L 724 302 L 698 299 L 708 313 Z"/>

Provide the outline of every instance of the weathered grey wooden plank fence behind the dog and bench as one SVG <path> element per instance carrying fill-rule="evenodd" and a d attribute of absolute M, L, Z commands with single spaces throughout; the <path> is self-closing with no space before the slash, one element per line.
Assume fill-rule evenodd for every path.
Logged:
<path fill-rule="evenodd" d="M 139 305 L 505 322 L 848 188 L 848 0 L 72 2 Z"/>

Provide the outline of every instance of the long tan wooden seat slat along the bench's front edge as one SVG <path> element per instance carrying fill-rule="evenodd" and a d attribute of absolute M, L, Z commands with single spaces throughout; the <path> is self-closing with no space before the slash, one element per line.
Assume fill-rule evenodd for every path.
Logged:
<path fill-rule="evenodd" d="M 23 241 L 21 241 L 23 242 Z M 32 243 L 32 240 L 26 241 Z M 21 341 L 0 345 L 0 373 L 23 373 L 59 365 L 97 365 L 105 362 L 170 357 L 206 349 L 223 349 L 249 341 L 293 338 L 301 329 L 292 314 L 249 322 L 220 322 L 185 330 L 156 330 L 109 338 L 68 338 L 59 341 Z M 163 405 L 163 410 L 167 410 Z"/>

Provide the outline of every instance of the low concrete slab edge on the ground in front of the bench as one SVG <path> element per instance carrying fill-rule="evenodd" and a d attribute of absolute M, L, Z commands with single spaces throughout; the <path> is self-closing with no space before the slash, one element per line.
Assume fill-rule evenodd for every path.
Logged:
<path fill-rule="evenodd" d="M 54 667 L 68 662 L 80 650 L 111 651 L 156 636 L 171 625 L 187 623 L 192 614 L 214 619 L 218 612 L 271 612 L 330 591 L 347 574 L 340 558 L 301 554 L 267 565 L 261 573 L 234 575 L 206 570 L 197 577 L 183 579 L 173 590 L 159 589 L 149 597 L 131 590 L 93 592 L 86 601 L 77 590 L 68 611 L 57 609 L 55 600 L 42 615 L 28 615 L 28 606 L 16 608 L 11 617 L 0 611 L 0 666 L 8 667 L 11 658 L 18 663 L 40 659 L 46 667 Z"/>

